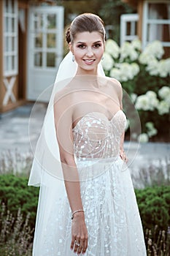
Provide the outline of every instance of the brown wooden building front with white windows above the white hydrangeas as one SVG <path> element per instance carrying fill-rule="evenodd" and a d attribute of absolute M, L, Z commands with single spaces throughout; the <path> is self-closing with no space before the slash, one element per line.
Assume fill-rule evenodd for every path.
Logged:
<path fill-rule="evenodd" d="M 134 15 L 122 15 L 121 40 L 142 40 L 144 48 L 148 42 L 160 40 L 165 57 L 170 57 L 170 1 L 169 0 L 123 0 L 136 8 Z"/>

